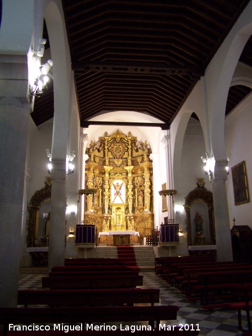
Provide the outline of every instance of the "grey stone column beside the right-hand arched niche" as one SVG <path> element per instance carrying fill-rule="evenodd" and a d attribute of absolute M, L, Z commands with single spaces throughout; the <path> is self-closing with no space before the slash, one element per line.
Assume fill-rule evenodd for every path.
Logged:
<path fill-rule="evenodd" d="M 218 261 L 233 260 L 226 191 L 226 166 L 227 160 L 216 160 L 212 182 Z"/>

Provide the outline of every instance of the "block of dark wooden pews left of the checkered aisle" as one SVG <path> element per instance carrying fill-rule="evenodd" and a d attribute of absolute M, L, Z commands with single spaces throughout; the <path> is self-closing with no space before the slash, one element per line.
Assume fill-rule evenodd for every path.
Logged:
<path fill-rule="evenodd" d="M 139 271 L 136 265 L 116 258 L 68 259 L 65 266 L 52 267 L 48 277 L 42 278 L 42 290 L 19 290 L 18 307 L 0 308 L 2 334 L 94 336 L 124 331 L 141 336 L 149 331 L 152 335 L 198 335 L 199 328 L 193 325 L 183 328 L 162 322 L 176 320 L 178 307 L 159 305 L 157 288 L 139 288 L 143 285 Z M 138 328 L 133 330 L 134 322 Z"/>

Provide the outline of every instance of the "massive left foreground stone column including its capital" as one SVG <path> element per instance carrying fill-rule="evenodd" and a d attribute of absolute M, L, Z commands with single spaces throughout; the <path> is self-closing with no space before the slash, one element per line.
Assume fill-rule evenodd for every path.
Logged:
<path fill-rule="evenodd" d="M 1 45 L 2 46 L 2 45 Z M 30 104 L 27 55 L 0 55 L 0 306 L 17 305 Z"/>

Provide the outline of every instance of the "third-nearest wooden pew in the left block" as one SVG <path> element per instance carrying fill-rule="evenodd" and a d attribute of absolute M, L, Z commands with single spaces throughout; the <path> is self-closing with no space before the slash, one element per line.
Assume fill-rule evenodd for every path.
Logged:
<path fill-rule="evenodd" d="M 42 287 L 50 289 L 135 288 L 143 286 L 143 276 L 42 277 Z"/>

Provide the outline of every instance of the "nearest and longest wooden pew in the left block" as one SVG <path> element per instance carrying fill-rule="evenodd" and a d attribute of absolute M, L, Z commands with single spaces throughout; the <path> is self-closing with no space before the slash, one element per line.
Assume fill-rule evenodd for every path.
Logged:
<path fill-rule="evenodd" d="M 0 307 L 0 324 L 4 325 L 4 336 L 9 324 L 32 323 L 84 323 L 148 321 L 158 327 L 162 320 L 175 320 L 177 306 L 133 306 L 133 307 L 64 307 L 64 308 L 13 308 Z M 46 332 L 45 332 L 46 334 Z"/>

